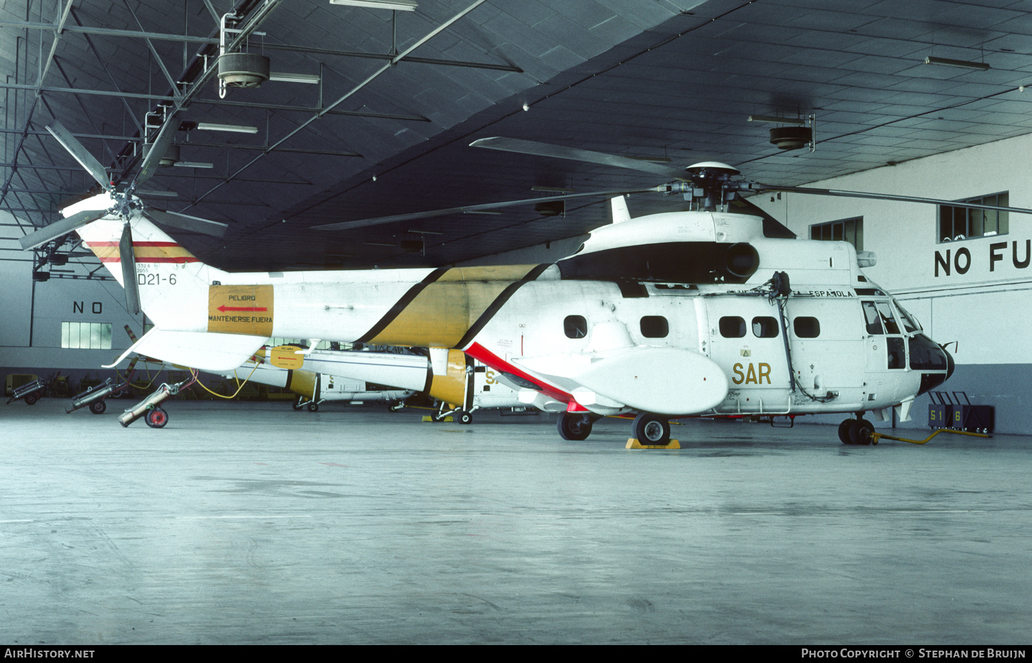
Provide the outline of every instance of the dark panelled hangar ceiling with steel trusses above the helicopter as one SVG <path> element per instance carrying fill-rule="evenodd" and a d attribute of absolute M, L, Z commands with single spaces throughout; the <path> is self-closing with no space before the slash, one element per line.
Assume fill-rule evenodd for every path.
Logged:
<path fill-rule="evenodd" d="M 148 202 L 230 224 L 176 233 L 236 270 L 441 265 L 573 236 L 605 202 L 361 229 L 312 226 L 420 210 L 659 184 L 653 176 L 467 147 L 502 135 L 670 160 L 719 160 L 798 186 L 1032 132 L 1032 0 L 7 0 L 0 6 L 0 207 L 17 239 L 95 186 L 45 131 L 60 120 L 112 177 L 138 161 L 149 112 L 255 133 L 180 131 Z M 220 18 L 272 72 L 220 98 Z M 230 37 L 233 33 L 230 33 Z M 983 63 L 960 68 L 926 57 Z M 778 125 L 815 117 L 816 149 Z M 204 125 L 200 125 L 203 127 Z M 537 189 L 535 189 L 537 188 Z M 541 191 L 545 189 L 545 191 Z M 634 214 L 680 209 L 639 195 Z M 420 244 L 422 242 L 422 244 Z M 418 250 L 419 247 L 422 250 Z M 558 256 L 557 256 L 558 257 Z M 73 260 L 76 275 L 96 271 Z M 71 262 L 69 263 L 71 264 Z M 70 269 L 70 267 L 63 267 Z"/>

